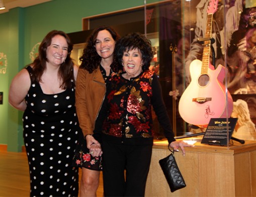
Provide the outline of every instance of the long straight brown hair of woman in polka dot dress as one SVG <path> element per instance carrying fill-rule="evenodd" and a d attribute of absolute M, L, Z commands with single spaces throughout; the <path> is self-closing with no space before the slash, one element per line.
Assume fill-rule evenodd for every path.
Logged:
<path fill-rule="evenodd" d="M 36 80 L 37 82 L 41 82 L 41 77 L 43 75 L 44 70 L 46 69 L 46 51 L 47 47 L 51 45 L 52 38 L 56 35 L 63 36 L 68 45 L 67 49 L 67 57 L 65 61 L 61 64 L 58 70 L 58 77 L 62 79 L 62 83 L 60 84 L 60 87 L 62 89 L 71 88 L 74 82 L 74 74 L 73 74 L 73 61 L 70 57 L 71 51 L 73 49 L 73 44 L 70 41 L 70 38 L 66 33 L 63 31 L 53 30 L 49 32 L 41 42 L 39 49 L 38 49 L 38 56 L 33 61 L 33 71 L 34 75 L 32 76 L 32 80 Z"/>

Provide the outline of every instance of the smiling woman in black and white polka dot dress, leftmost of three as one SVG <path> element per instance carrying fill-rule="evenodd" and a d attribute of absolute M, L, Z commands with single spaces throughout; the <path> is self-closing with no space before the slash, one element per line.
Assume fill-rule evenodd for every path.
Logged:
<path fill-rule="evenodd" d="M 64 32 L 49 32 L 38 57 L 10 86 L 10 105 L 24 111 L 30 196 L 78 195 L 78 169 L 72 167 L 72 158 L 81 131 L 75 111 L 78 67 L 70 58 L 72 48 Z"/>

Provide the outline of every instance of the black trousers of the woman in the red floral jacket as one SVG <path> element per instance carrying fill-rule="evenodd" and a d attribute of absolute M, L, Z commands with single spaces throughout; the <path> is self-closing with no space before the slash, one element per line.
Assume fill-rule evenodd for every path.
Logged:
<path fill-rule="evenodd" d="M 104 196 L 144 196 L 152 145 L 102 142 Z"/>

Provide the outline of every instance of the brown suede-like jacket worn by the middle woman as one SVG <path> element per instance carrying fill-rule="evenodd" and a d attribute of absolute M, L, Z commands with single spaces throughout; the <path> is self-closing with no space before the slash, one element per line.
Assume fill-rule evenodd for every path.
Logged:
<path fill-rule="evenodd" d="M 75 88 L 75 106 L 84 136 L 93 134 L 105 93 L 106 85 L 100 67 L 93 73 L 79 68 Z"/>

